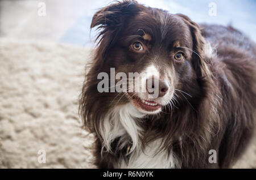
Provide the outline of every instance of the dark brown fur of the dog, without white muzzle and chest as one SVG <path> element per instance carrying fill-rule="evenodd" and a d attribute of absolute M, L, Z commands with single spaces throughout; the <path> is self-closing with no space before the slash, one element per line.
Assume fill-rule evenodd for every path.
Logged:
<path fill-rule="evenodd" d="M 158 24 L 161 18 L 165 22 L 162 28 Z M 115 67 L 119 72 L 141 72 L 148 63 L 146 61 L 150 61 L 145 59 L 154 56 L 158 57 L 154 63 L 163 67 L 163 72 L 170 71 L 164 68 L 166 66 L 175 68 L 172 75 L 176 87 L 189 92 L 192 97 L 176 92 L 179 99 L 173 111 L 166 108 L 160 115 L 148 115 L 143 122 L 138 121 L 143 129 L 143 147 L 163 138 L 162 147 L 175 152 L 181 168 L 230 168 L 245 151 L 255 127 L 254 43 L 231 27 L 202 25 L 201 30 L 185 15 L 168 14 L 136 1 L 117 2 L 102 8 L 93 16 L 91 28 L 96 26 L 101 30 L 99 45 L 90 71 L 86 74 L 80 100 L 80 113 L 86 130 L 94 132 L 97 137 L 96 165 L 99 168 L 113 168 L 118 158 L 125 156 L 126 148 L 114 153 L 103 152 L 101 156 L 99 127 L 102 117 L 113 106 L 129 102 L 124 96 L 110 104 L 117 93 L 97 91 L 98 73 L 109 73 L 110 67 Z M 152 41 L 145 42 L 151 48 L 147 55 L 134 54 L 126 46 L 129 36 L 139 28 L 146 29 Z M 217 29 L 225 30 L 222 38 L 214 33 Z M 216 55 L 207 55 L 206 40 L 216 46 Z M 195 52 L 184 49 L 187 62 L 170 63 L 170 46 L 176 41 Z M 113 150 L 117 142 L 118 139 L 112 143 Z M 209 149 L 216 149 L 217 164 L 208 162 Z"/>

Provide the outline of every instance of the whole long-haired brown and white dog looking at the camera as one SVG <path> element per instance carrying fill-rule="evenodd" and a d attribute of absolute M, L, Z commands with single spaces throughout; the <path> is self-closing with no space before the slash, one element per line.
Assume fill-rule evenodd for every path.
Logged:
<path fill-rule="evenodd" d="M 199 26 L 185 15 L 136 1 L 102 8 L 93 27 L 100 31 L 98 48 L 80 114 L 96 135 L 95 164 L 230 168 L 255 127 L 254 42 L 232 27 Z M 98 75 L 110 75 L 110 68 L 115 75 L 138 72 L 146 91 L 99 92 Z M 126 84 L 135 89 L 135 83 Z M 149 98 L 149 89 L 157 96 Z M 214 151 L 217 160 L 209 161 Z"/>

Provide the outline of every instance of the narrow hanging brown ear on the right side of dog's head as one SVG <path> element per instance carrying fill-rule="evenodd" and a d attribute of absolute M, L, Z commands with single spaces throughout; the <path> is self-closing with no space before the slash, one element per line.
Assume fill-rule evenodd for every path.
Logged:
<path fill-rule="evenodd" d="M 188 25 L 192 40 L 193 40 L 193 66 L 195 68 L 195 71 L 197 72 L 197 75 L 200 78 L 206 77 L 210 75 L 209 68 L 207 66 L 207 57 L 205 56 L 205 48 L 207 46 L 204 37 L 201 34 L 201 30 L 198 24 L 193 22 L 191 19 L 188 18 L 188 16 L 185 16 L 183 14 L 176 14 L 177 16 L 180 16 L 180 18 L 183 19 L 183 21 Z"/>

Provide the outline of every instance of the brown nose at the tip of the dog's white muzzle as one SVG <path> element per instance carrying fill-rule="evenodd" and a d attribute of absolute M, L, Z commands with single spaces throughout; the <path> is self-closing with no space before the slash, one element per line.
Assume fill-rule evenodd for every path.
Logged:
<path fill-rule="evenodd" d="M 160 80 L 154 77 L 148 78 L 146 85 L 147 85 L 147 92 L 150 95 L 153 95 L 153 94 L 157 95 L 157 97 L 163 97 L 164 95 L 166 95 L 169 89 L 169 85 L 166 80 Z"/>

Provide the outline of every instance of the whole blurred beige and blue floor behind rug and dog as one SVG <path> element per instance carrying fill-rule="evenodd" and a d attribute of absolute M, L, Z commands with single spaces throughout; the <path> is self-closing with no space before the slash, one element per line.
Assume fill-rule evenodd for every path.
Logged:
<path fill-rule="evenodd" d="M 40 3 L 46 15 L 40 16 Z M 94 13 L 112 0 L 0 0 L 0 37 L 94 46 L 90 23 Z M 256 41 L 256 0 L 138 0 L 146 6 L 182 13 L 197 23 L 233 25 Z M 216 16 L 209 7 L 216 5 Z"/>

